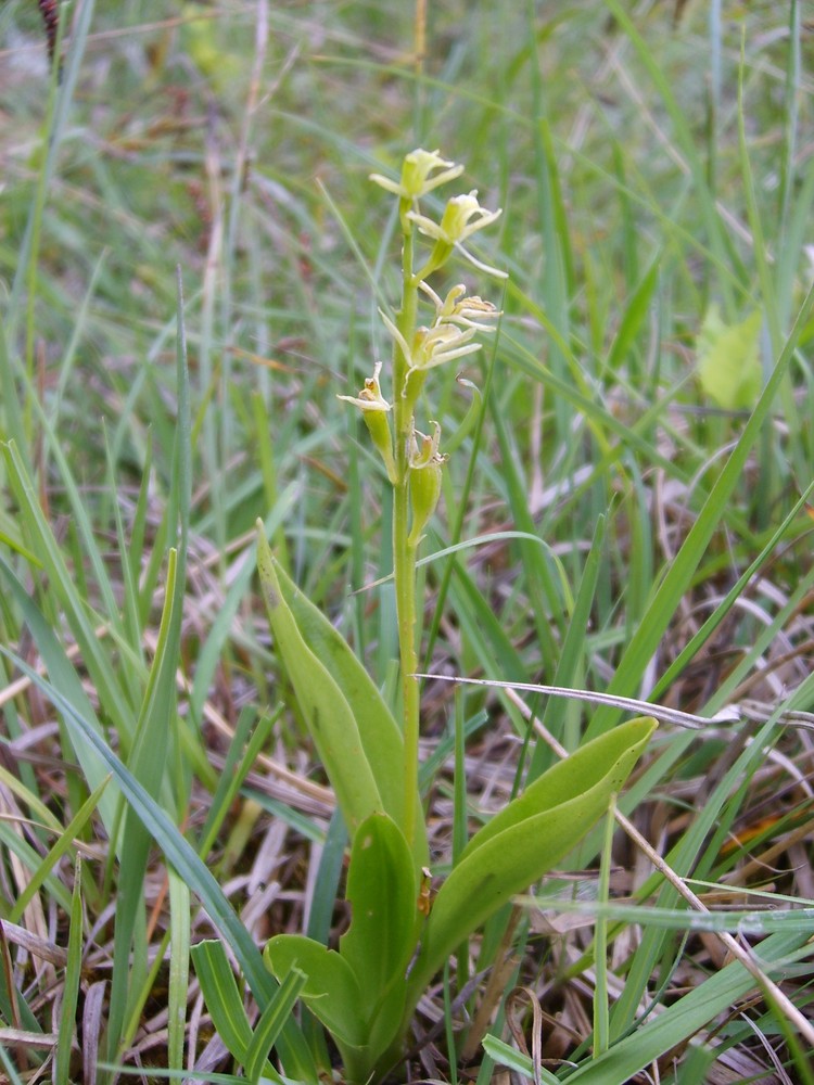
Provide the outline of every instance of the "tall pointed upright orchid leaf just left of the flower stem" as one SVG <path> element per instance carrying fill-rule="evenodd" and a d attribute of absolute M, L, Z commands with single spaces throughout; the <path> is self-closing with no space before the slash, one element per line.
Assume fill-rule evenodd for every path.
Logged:
<path fill-rule="evenodd" d="M 265 537 L 265 536 L 264 536 Z M 280 595 L 290 609 L 301 637 L 329 672 L 353 713 L 365 756 L 373 774 L 384 810 L 404 826 L 404 739 L 398 724 L 376 682 L 344 637 L 319 608 L 296 587 L 272 557 Z M 288 665 L 288 664 L 287 664 Z M 406 835 L 406 834 L 405 834 Z M 427 863 L 427 830 L 421 804 L 416 803 L 416 865 Z"/>

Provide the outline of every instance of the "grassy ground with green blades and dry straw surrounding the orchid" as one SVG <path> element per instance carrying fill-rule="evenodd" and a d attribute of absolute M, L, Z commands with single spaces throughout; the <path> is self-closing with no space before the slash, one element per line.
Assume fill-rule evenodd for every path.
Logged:
<path fill-rule="evenodd" d="M 405 1072 L 814 1082 L 804 5 L 96 9 L 65 9 L 59 86 L 37 5 L 0 9 L 4 1080 L 238 1073 L 190 946 L 219 930 L 253 1026 L 254 946 L 346 922 L 251 528 L 395 697 L 392 590 L 358 590 L 391 570 L 386 487 L 335 395 L 389 353 L 368 174 L 437 146 L 504 208 L 479 252 L 510 278 L 424 544 L 467 544 L 423 566 L 427 669 L 686 715 L 620 799 L 644 842 L 600 827 L 465 947 Z M 434 873 L 545 735 L 621 718 L 428 680 Z"/>

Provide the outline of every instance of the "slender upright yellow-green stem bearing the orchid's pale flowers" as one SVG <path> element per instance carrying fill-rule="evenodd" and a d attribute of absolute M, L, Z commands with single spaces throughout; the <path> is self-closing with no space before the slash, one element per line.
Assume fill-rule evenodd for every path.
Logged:
<path fill-rule="evenodd" d="M 398 330 L 410 344 L 416 332 L 418 283 L 412 275 L 412 228 L 404 232 L 402 251 L 402 309 Z M 398 643 L 402 668 L 404 712 L 404 831 L 412 848 L 416 837 L 416 802 L 418 794 L 419 687 L 417 643 L 421 625 L 416 609 L 416 547 L 409 542 L 410 494 L 409 450 L 414 418 L 409 404 L 402 395 L 407 378 L 407 358 L 396 344 L 393 365 L 393 398 L 395 416 L 395 461 L 397 481 L 393 495 L 393 575 L 398 617 Z"/>

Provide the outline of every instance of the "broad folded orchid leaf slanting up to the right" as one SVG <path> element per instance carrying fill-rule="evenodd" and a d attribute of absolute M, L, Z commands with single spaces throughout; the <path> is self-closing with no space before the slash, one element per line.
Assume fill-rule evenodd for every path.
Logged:
<path fill-rule="evenodd" d="M 596 824 L 656 726 L 643 717 L 589 742 L 544 773 L 470 841 L 433 904 L 410 973 L 408 1005 L 461 939 L 542 878 Z"/>

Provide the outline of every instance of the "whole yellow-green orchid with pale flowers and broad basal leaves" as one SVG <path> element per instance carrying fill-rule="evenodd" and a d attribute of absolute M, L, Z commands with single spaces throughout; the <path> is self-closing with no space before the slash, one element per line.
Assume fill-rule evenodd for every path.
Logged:
<path fill-rule="evenodd" d="M 400 305 L 393 317 L 381 314 L 393 341 L 391 399 L 382 391 L 381 363 L 357 395 L 340 396 L 361 412 L 393 487 L 399 720 L 341 635 L 276 561 L 258 521 L 260 583 L 276 650 L 348 830 L 352 914 L 338 950 L 280 934 L 269 941 L 265 960 L 280 982 L 300 976 L 301 999 L 331 1034 L 344 1080 L 358 1085 L 398 1072 L 419 998 L 450 954 L 574 847 L 608 809 L 656 726 L 650 718 L 623 724 L 537 778 L 474 833 L 431 896 L 419 792 L 422 608 L 416 559 L 446 457 L 438 423 L 419 431 L 416 409 L 431 371 L 480 349 L 476 337 L 493 333 L 500 314 L 463 285 L 441 296 L 428 280 L 456 256 L 504 277 L 465 247 L 500 214 L 482 207 L 476 191 L 453 196 L 438 221 L 421 209 L 430 192 L 462 170 L 437 151 L 417 150 L 405 157 L 398 181 L 371 176 L 398 200 L 402 235 Z M 421 303 L 429 306 L 423 323 Z"/>

